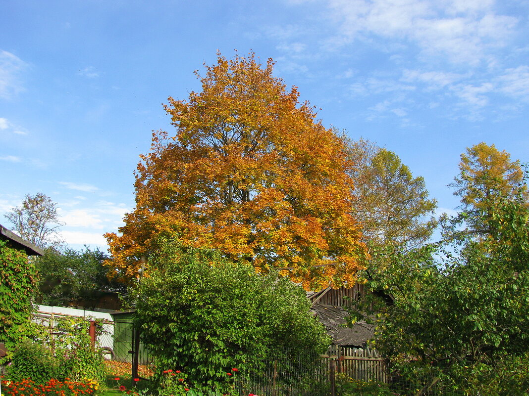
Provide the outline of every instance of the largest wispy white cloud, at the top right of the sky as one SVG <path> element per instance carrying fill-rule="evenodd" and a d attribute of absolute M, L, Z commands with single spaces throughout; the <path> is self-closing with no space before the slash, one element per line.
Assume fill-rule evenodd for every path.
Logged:
<path fill-rule="evenodd" d="M 478 65 L 506 45 L 518 23 L 492 1 L 329 0 L 345 42 L 381 37 L 417 45 L 421 58 Z M 341 22 L 341 24 L 340 24 Z M 390 47 L 389 47 L 390 48 Z"/>

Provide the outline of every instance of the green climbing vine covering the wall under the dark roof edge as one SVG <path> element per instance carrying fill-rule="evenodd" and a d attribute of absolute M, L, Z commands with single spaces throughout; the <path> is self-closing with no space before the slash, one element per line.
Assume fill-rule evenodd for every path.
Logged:
<path fill-rule="evenodd" d="M 28 254 L 8 240 L 0 240 L 0 269 L 0 342 L 12 350 L 14 343 L 31 332 L 31 295 L 37 270 Z"/>

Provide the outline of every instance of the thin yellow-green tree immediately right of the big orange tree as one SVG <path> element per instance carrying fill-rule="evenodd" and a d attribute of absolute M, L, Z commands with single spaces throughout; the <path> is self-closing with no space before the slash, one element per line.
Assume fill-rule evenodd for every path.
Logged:
<path fill-rule="evenodd" d="M 351 177 L 355 215 L 368 246 L 405 246 L 428 240 L 437 226 L 437 202 L 428 197 L 423 177 L 413 177 L 400 158 L 369 140 L 349 141 L 355 163 Z"/>

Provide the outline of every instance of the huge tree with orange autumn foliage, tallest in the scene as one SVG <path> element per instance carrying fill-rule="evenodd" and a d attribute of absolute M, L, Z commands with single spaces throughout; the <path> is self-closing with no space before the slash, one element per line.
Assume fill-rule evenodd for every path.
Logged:
<path fill-rule="evenodd" d="M 160 238 L 214 248 L 305 288 L 353 282 L 366 259 L 351 215 L 342 139 L 250 54 L 206 66 L 202 92 L 165 106 L 175 134 L 153 134 L 136 172 L 136 208 L 108 233 L 116 275 L 138 274 Z"/>

